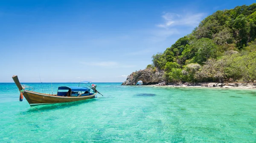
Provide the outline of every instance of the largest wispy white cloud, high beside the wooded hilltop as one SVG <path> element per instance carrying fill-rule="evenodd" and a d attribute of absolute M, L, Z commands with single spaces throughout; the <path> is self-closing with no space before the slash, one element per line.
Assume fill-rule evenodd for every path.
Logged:
<path fill-rule="evenodd" d="M 175 13 L 164 13 L 162 15 L 163 19 L 165 22 L 163 24 L 157 25 L 157 27 L 160 28 L 169 28 L 172 26 L 177 26 L 177 25 L 185 25 L 185 26 L 192 26 L 195 27 L 199 24 L 199 22 L 203 19 L 205 16 L 204 13 L 198 13 L 198 14 L 175 14 Z"/>

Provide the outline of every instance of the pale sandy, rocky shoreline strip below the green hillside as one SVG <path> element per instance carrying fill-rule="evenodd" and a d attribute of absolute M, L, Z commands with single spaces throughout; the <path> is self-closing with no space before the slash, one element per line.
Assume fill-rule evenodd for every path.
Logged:
<path fill-rule="evenodd" d="M 169 83 L 161 82 L 158 84 L 147 85 L 150 87 L 221 87 L 221 88 L 240 88 L 240 89 L 256 89 L 256 83 Z"/>

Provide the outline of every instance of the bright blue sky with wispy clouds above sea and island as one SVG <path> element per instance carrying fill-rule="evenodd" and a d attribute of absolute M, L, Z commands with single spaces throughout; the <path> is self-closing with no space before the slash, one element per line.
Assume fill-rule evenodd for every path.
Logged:
<path fill-rule="evenodd" d="M 1 0 L 0 82 L 123 82 L 217 10 L 253 0 Z"/>

